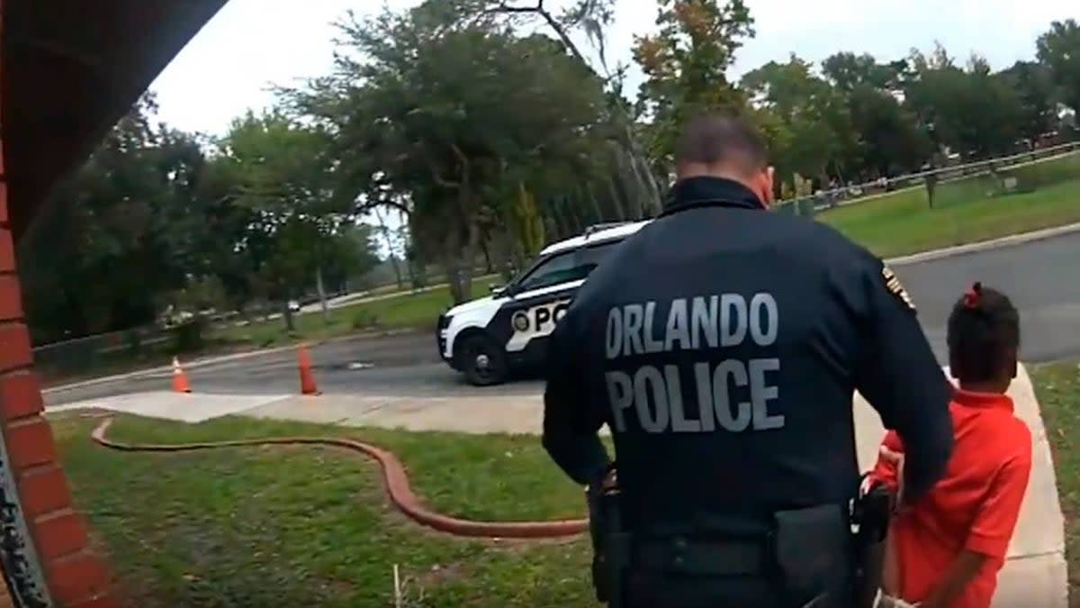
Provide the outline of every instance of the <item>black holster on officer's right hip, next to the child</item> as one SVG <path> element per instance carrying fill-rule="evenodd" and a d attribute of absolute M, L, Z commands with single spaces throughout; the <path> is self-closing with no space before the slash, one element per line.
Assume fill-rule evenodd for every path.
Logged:
<path fill-rule="evenodd" d="M 882 485 L 875 485 L 855 499 L 851 523 L 855 529 L 855 608 L 873 608 L 881 587 L 886 538 L 895 498 Z"/>

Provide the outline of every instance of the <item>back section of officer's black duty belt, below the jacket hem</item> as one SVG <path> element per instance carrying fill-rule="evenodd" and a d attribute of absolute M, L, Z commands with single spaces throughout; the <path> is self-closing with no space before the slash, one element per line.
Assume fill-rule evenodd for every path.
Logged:
<path fill-rule="evenodd" d="M 689 541 L 681 537 L 634 543 L 633 568 L 687 576 L 760 574 L 772 561 L 768 543 Z"/>

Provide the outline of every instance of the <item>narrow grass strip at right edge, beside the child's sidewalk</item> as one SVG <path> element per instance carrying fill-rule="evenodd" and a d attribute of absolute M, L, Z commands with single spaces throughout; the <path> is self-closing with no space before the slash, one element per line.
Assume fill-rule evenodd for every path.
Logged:
<path fill-rule="evenodd" d="M 1069 605 L 1080 606 L 1080 361 L 1032 368 L 1065 514 Z"/>

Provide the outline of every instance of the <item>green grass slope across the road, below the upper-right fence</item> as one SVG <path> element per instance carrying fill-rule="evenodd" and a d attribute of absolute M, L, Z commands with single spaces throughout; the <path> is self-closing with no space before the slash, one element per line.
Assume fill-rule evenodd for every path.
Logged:
<path fill-rule="evenodd" d="M 987 240 L 1080 221 L 1080 154 L 1003 173 L 1031 191 L 987 197 L 986 177 L 937 186 L 930 209 L 924 188 L 818 214 L 882 257 Z M 1045 185 L 1040 185 L 1045 184 Z"/>

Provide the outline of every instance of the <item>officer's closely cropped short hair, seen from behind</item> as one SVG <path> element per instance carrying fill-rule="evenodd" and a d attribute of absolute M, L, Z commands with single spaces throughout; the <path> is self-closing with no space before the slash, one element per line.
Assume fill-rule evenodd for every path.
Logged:
<path fill-rule="evenodd" d="M 702 115 L 687 124 L 675 146 L 677 164 L 726 164 L 756 171 L 768 162 L 765 138 L 743 118 Z"/>

